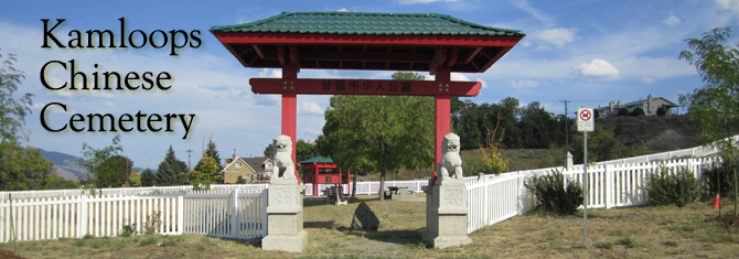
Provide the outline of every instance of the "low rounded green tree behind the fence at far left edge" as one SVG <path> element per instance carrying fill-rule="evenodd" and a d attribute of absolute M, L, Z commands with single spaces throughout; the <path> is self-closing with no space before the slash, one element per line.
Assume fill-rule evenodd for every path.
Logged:
<path fill-rule="evenodd" d="M 0 190 L 41 190 L 54 171 L 38 149 L 12 140 L 0 142 Z"/>

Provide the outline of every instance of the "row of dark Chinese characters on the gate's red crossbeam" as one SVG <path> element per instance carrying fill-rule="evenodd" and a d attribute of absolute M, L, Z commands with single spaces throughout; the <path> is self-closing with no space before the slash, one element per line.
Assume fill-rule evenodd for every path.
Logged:
<path fill-rule="evenodd" d="M 385 83 L 385 85 L 383 85 Z M 382 80 L 344 80 L 344 79 L 325 79 L 321 83 L 324 91 L 345 91 L 345 93 L 413 93 L 413 82 L 400 82 L 398 87 L 396 82 Z"/>

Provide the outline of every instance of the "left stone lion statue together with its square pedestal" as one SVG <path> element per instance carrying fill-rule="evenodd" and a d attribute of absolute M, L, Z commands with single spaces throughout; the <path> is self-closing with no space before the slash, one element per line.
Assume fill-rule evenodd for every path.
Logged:
<path fill-rule="evenodd" d="M 261 239 L 263 250 L 302 252 L 308 245 L 303 229 L 303 197 L 306 188 L 298 184 L 292 162 L 290 137 L 272 140 L 275 161 L 268 192 L 267 236 Z"/>

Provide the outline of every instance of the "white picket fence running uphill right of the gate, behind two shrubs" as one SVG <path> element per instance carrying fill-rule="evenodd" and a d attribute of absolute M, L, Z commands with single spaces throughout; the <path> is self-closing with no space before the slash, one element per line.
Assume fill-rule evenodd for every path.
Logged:
<path fill-rule="evenodd" d="M 588 166 L 589 196 L 588 208 L 611 208 L 643 205 L 649 201 L 645 187 L 651 173 L 661 168 L 678 170 L 689 169 L 700 180 L 708 166 L 718 162 L 718 158 L 682 159 L 664 162 L 649 162 L 635 164 L 601 164 Z M 579 169 L 560 172 L 566 181 L 577 181 L 583 186 L 583 170 Z M 532 177 L 551 173 L 549 171 L 533 170 L 504 173 L 500 175 L 480 175 L 467 177 L 468 190 L 468 233 L 522 215 L 534 208 L 536 196 L 525 186 Z"/>

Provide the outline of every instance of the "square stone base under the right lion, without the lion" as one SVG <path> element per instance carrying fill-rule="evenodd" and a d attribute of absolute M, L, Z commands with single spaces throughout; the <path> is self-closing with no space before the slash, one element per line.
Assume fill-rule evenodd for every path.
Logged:
<path fill-rule="evenodd" d="M 426 186 L 426 233 L 429 246 L 443 249 L 472 244 L 467 236 L 467 186 L 463 181 L 445 181 Z"/>

